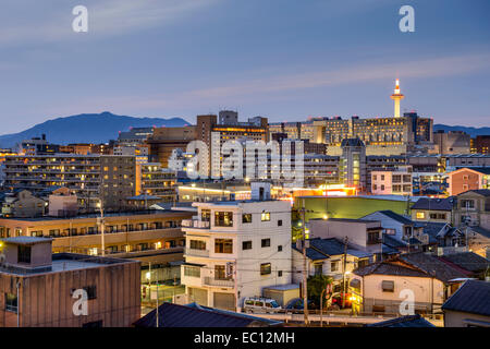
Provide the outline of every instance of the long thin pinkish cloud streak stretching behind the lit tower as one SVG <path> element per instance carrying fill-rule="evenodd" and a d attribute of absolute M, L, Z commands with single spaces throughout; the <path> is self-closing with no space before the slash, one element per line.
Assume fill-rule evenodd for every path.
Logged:
<path fill-rule="evenodd" d="M 257 80 L 242 80 L 226 85 L 181 91 L 154 96 L 119 96 L 90 100 L 85 104 L 97 109 L 163 109 L 182 108 L 182 106 L 209 106 L 223 103 L 257 101 L 272 95 L 287 92 L 327 86 L 341 86 L 355 83 L 400 79 L 427 79 L 453 76 L 471 73 L 490 68 L 490 53 L 464 55 L 455 57 L 432 58 L 416 61 L 395 61 L 392 63 L 371 63 L 344 67 L 340 69 L 315 70 L 301 74 L 281 74 Z M 112 110 L 112 109 L 111 109 Z"/>

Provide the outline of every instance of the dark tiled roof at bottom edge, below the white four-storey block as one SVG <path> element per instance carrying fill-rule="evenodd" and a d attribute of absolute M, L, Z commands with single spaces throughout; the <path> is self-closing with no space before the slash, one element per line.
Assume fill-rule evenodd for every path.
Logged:
<path fill-rule="evenodd" d="M 157 310 L 134 323 L 136 327 L 156 327 Z M 246 327 L 249 325 L 278 326 L 281 322 L 242 313 L 201 306 L 196 303 L 179 305 L 163 303 L 158 306 L 159 327 Z"/>

